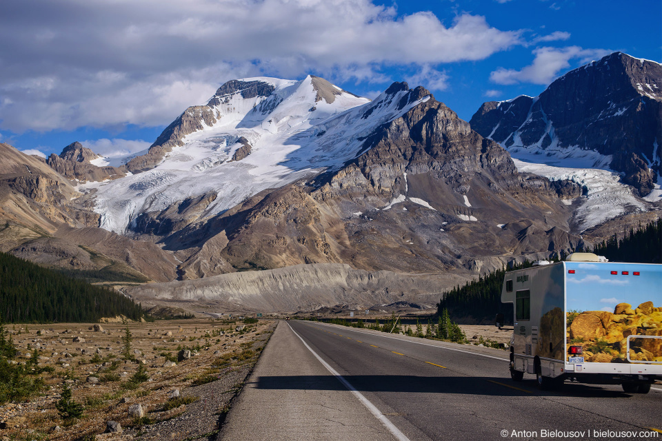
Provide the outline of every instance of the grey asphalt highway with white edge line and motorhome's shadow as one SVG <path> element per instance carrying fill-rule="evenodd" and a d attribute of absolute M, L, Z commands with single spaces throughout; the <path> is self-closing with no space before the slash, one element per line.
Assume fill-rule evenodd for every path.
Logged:
<path fill-rule="evenodd" d="M 352 390 L 353 389 L 353 390 Z M 513 382 L 508 353 L 281 321 L 221 440 L 662 440 L 662 387 Z"/>

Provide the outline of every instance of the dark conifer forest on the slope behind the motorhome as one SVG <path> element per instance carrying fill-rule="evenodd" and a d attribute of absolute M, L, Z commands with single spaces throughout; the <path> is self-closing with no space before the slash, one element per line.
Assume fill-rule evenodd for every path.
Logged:
<path fill-rule="evenodd" d="M 577 250 L 583 251 L 583 250 Z M 603 240 L 594 249 L 588 249 L 611 261 L 632 263 L 662 263 L 662 219 L 636 229 L 631 228 L 629 234 L 622 239 L 612 236 Z M 559 256 L 563 259 L 562 253 Z M 505 314 L 508 321 L 512 320 L 512 307 L 501 303 L 501 287 L 506 271 L 528 268 L 532 265 L 525 262 L 513 265 L 508 269 L 497 269 L 478 280 L 467 282 L 463 287 L 457 286 L 442 294 L 437 303 L 437 314 L 441 316 L 444 309 L 448 309 L 454 318 L 470 318 L 472 320 L 493 322 L 498 313 Z"/>

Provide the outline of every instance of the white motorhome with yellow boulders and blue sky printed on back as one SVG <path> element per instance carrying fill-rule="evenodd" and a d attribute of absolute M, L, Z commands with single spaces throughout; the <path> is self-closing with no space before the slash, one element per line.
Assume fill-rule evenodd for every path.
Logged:
<path fill-rule="evenodd" d="M 506 273 L 501 302 L 513 304 L 512 380 L 533 373 L 541 389 L 574 380 L 648 393 L 662 380 L 660 287 L 662 265 L 610 263 L 590 253 Z"/>

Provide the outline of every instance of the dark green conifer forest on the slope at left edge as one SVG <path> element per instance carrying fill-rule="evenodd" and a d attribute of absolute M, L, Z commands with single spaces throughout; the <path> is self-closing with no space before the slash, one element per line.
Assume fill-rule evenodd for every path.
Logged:
<path fill-rule="evenodd" d="M 6 322 L 96 322 L 143 316 L 141 305 L 112 289 L 0 253 L 0 315 Z"/>

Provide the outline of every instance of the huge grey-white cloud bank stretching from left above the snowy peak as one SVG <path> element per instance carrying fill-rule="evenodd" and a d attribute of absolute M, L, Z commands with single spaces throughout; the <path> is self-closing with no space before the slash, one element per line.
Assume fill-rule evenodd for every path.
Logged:
<path fill-rule="evenodd" d="M 370 0 L 8 0 L 0 127 L 160 125 L 229 79 L 383 81 L 383 65 L 481 60 L 521 44 L 521 33 L 468 13 L 452 23 L 398 16 Z"/>

